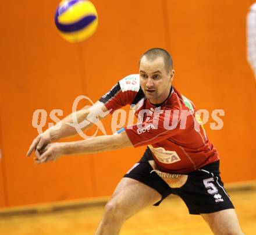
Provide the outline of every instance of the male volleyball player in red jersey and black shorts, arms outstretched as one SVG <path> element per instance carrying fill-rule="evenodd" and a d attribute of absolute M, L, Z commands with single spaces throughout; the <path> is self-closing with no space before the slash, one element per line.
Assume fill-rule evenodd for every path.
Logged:
<path fill-rule="evenodd" d="M 150 49 L 141 56 L 139 74 L 120 80 L 95 105 L 75 113 L 81 122 L 91 113 L 113 113 L 130 104 L 140 124 L 109 136 L 50 144 L 76 134 L 66 124 L 72 122 L 69 115 L 59 130 L 48 129 L 29 148 L 27 155 L 35 149 L 35 161 L 44 163 L 61 155 L 147 145 L 106 204 L 96 234 L 119 234 L 126 219 L 145 206 L 159 205 L 170 194 L 179 195 L 189 212 L 201 215 L 215 234 L 243 234 L 219 176 L 218 152 L 200 125 L 194 104 L 172 86 L 174 75 L 169 53 Z"/>

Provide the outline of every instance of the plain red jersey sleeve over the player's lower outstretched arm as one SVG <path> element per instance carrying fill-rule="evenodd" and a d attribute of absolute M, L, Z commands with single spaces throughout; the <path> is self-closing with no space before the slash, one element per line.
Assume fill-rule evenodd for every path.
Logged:
<path fill-rule="evenodd" d="M 126 126 L 125 131 L 133 146 L 140 147 L 155 144 L 179 134 L 180 131 L 184 131 L 180 126 L 180 114 L 165 110 L 140 125 Z"/>

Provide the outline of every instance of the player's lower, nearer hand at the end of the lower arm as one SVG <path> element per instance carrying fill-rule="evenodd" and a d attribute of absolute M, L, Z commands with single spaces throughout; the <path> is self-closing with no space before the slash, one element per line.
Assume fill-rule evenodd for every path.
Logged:
<path fill-rule="evenodd" d="M 41 151 L 35 150 L 35 163 L 41 164 L 45 162 L 56 161 L 64 154 L 63 143 L 48 144 Z"/>

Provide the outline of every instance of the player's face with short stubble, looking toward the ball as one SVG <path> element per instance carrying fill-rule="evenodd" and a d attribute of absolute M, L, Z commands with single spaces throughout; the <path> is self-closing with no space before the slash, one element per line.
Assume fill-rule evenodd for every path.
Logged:
<path fill-rule="evenodd" d="M 174 73 L 174 70 L 166 72 L 161 56 L 153 61 L 141 58 L 140 86 L 152 104 L 160 104 L 168 97 Z"/>

